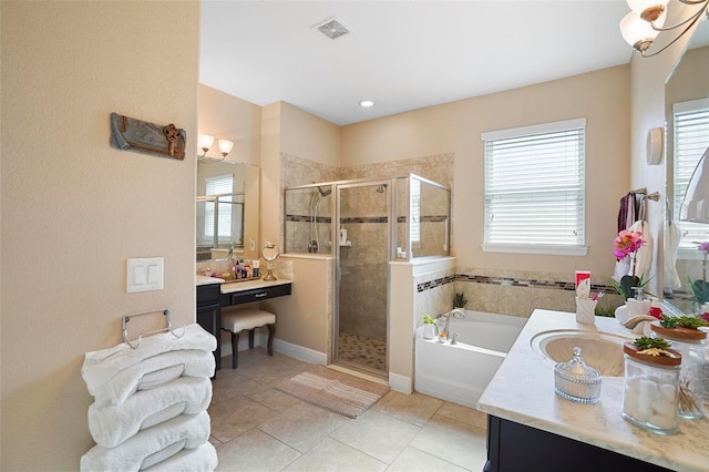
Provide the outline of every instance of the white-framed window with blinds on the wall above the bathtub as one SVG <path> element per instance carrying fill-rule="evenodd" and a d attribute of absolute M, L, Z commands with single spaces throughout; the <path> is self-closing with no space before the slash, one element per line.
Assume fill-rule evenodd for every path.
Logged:
<path fill-rule="evenodd" d="M 585 255 L 586 120 L 483 133 L 483 250 Z"/>

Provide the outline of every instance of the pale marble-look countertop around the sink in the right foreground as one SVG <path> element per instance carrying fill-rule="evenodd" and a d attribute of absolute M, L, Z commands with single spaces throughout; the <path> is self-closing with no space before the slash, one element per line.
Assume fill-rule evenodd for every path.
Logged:
<path fill-rule="evenodd" d="M 679 433 L 659 435 L 623 419 L 623 378 L 603 377 L 600 401 L 575 403 L 554 393 L 553 360 L 531 346 L 551 329 L 584 329 L 635 339 L 615 318 L 576 322 L 575 314 L 534 310 L 477 402 L 485 413 L 608 449 L 676 471 L 709 471 L 709 419 L 679 419 Z M 593 367 L 593 366 L 592 366 Z"/>

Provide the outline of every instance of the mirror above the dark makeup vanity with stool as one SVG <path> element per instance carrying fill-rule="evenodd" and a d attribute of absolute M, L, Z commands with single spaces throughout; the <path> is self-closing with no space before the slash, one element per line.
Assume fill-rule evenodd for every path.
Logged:
<path fill-rule="evenodd" d="M 259 168 L 229 161 L 197 163 L 197 263 L 258 258 Z"/>

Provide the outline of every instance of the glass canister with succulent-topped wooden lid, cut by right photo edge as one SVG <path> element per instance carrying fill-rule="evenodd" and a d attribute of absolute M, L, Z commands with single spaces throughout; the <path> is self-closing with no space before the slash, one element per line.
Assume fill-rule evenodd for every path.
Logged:
<path fill-rule="evenodd" d="M 707 363 L 707 334 L 699 329 L 665 328 L 659 321 L 653 321 L 654 332 L 672 343 L 672 348 L 682 355 L 679 371 L 679 399 L 677 414 L 687 420 L 697 420 L 705 415 L 705 373 Z"/>

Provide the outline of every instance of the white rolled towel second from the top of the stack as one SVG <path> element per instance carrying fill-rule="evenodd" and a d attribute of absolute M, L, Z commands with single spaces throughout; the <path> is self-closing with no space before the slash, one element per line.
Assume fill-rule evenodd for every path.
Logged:
<path fill-rule="evenodd" d="M 179 377 L 212 377 L 214 369 L 212 352 L 165 352 L 116 372 L 104 383 L 89 388 L 89 392 L 94 396 L 97 406 L 120 406 L 138 390 L 158 388 Z"/>

